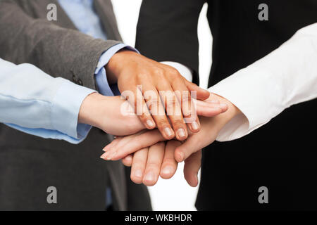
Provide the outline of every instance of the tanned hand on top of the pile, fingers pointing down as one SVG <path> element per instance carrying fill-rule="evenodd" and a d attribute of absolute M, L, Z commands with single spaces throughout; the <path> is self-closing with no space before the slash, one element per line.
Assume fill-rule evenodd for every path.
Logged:
<path fill-rule="evenodd" d="M 106 65 L 106 72 L 108 77 L 112 77 L 109 82 L 118 81 L 120 92 L 128 98 L 147 129 L 157 126 L 165 139 L 176 136 L 178 140 L 185 140 L 188 136 L 183 120 L 185 117 L 190 131 L 199 131 L 199 119 L 189 92 L 197 91 L 197 99 L 200 100 L 208 98 L 209 92 L 187 82 L 178 70 L 133 51 L 123 50 L 111 58 Z"/>

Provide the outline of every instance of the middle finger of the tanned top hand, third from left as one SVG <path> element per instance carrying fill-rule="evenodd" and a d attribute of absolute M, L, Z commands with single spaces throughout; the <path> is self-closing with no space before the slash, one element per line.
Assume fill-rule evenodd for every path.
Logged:
<path fill-rule="evenodd" d="M 165 105 L 166 113 L 170 119 L 170 123 L 175 131 L 176 139 L 183 141 L 187 139 L 187 126 L 182 117 L 182 109 L 170 84 L 159 84 L 158 88 L 161 90 L 159 94 L 163 105 Z"/>

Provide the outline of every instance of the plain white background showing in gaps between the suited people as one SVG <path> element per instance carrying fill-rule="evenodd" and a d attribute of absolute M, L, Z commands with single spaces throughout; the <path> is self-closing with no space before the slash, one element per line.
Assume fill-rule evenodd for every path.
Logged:
<path fill-rule="evenodd" d="M 113 0 L 112 2 L 125 44 L 135 46 L 135 32 L 142 0 Z M 200 86 L 203 88 L 207 87 L 211 67 L 212 37 L 206 19 L 207 7 L 205 5 L 201 11 L 198 27 L 199 74 Z M 149 188 L 154 210 L 196 210 L 194 203 L 198 188 L 192 188 L 187 184 L 182 169 L 183 164 L 180 164 L 173 179 L 159 179 L 156 186 Z"/>

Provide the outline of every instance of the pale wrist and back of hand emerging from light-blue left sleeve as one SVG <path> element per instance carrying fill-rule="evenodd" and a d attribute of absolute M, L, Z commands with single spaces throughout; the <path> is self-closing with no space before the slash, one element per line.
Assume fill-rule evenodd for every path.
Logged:
<path fill-rule="evenodd" d="M 108 97 L 98 93 L 90 94 L 82 102 L 78 122 L 118 136 L 135 134 L 145 129 L 130 104 L 120 96 Z"/>

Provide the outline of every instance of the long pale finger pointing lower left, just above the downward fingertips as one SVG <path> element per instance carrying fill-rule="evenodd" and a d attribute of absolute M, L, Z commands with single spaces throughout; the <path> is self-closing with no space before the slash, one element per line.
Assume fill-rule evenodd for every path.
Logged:
<path fill-rule="evenodd" d="M 111 160 L 120 160 L 127 155 L 135 153 L 137 150 L 153 146 L 159 141 L 165 141 L 162 134 L 157 130 L 146 131 L 138 135 L 127 136 L 116 146 L 108 150 Z"/>

